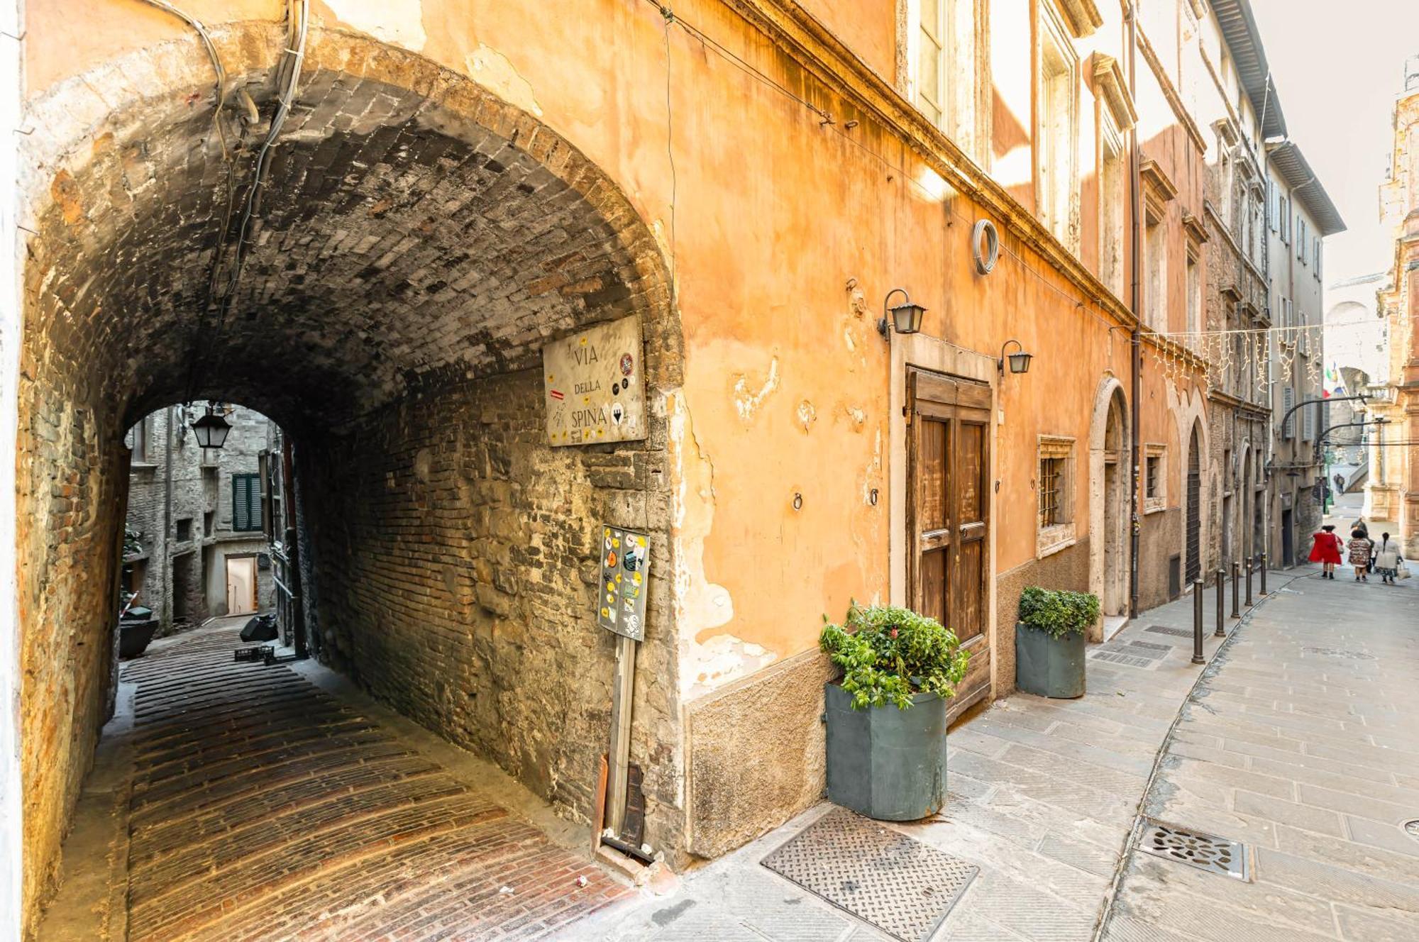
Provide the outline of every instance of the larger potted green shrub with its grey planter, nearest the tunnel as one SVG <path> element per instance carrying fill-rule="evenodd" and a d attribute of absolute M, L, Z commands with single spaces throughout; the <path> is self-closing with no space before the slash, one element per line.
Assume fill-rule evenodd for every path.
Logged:
<path fill-rule="evenodd" d="M 823 617 L 819 647 L 843 668 L 826 684 L 827 797 L 858 814 L 911 821 L 946 799 L 946 698 L 965 675 L 956 636 L 908 609 Z"/>

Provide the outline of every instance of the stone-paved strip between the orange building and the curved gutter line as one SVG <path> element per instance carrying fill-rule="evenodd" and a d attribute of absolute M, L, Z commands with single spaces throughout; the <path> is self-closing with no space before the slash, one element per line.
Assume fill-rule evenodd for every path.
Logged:
<path fill-rule="evenodd" d="M 1210 657 L 1212 593 L 1206 611 Z M 946 807 L 893 826 L 981 868 L 934 939 L 1093 938 L 1154 760 L 1198 678 L 1191 660 L 1185 599 L 1091 647 L 1081 699 L 1017 694 L 951 731 Z M 759 865 L 830 807 L 692 871 L 675 895 L 620 904 L 562 938 L 890 939 Z"/>

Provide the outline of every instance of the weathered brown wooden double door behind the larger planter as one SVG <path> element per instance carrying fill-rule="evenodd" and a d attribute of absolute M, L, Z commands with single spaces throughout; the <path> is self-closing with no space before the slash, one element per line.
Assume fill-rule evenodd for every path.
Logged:
<path fill-rule="evenodd" d="M 907 597 L 971 653 L 952 716 L 990 689 L 990 387 L 907 375 Z"/>

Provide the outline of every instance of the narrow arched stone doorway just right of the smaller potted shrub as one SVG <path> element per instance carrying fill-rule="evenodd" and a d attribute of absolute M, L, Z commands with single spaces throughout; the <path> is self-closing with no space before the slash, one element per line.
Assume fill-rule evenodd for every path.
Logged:
<path fill-rule="evenodd" d="M 1117 376 L 1094 394 L 1088 426 L 1088 590 L 1105 617 L 1128 611 L 1128 407 Z M 1103 626 L 1091 640 L 1103 640 Z"/>

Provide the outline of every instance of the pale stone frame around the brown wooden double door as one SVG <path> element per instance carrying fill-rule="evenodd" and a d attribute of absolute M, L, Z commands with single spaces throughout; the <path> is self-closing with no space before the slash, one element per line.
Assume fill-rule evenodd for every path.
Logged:
<path fill-rule="evenodd" d="M 891 604 L 905 606 L 908 604 L 908 541 L 907 541 L 907 436 L 908 423 L 904 409 L 907 407 L 907 373 L 908 369 L 920 369 L 931 373 L 938 373 L 946 379 L 955 379 L 961 382 L 982 383 L 989 389 L 990 393 L 990 414 L 995 417 L 989 423 L 989 431 L 986 436 L 988 447 L 988 472 L 986 481 L 992 482 L 992 487 L 986 491 L 986 519 L 996 519 L 996 492 L 995 484 L 998 484 L 998 454 L 999 454 L 999 413 L 998 397 L 996 397 L 996 359 L 988 353 L 979 353 L 976 350 L 968 350 L 955 343 L 948 343 L 934 336 L 927 336 L 924 333 L 893 333 L 891 335 L 891 377 L 888 389 L 888 499 L 890 499 L 890 526 L 888 526 L 888 599 Z M 986 553 L 986 593 L 985 593 L 985 628 L 982 630 L 979 638 L 985 638 L 993 650 L 999 650 L 1000 631 L 998 626 L 996 611 L 998 611 L 998 573 L 995 572 L 995 558 L 996 558 L 996 528 L 988 526 L 985 539 L 985 553 Z M 1010 626 L 1013 628 L 1013 623 Z M 1013 644 L 1013 636 L 1009 638 Z M 989 682 L 985 684 L 979 691 L 975 691 L 969 697 L 956 698 L 951 705 L 951 716 L 956 716 L 961 711 L 969 708 L 972 704 L 982 698 L 988 698 L 992 691 L 1003 689 L 1002 685 L 1013 682 L 1012 678 L 1000 677 L 1000 660 L 999 657 L 990 658 L 990 677 Z"/>

